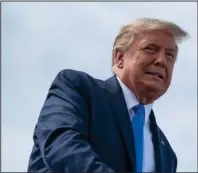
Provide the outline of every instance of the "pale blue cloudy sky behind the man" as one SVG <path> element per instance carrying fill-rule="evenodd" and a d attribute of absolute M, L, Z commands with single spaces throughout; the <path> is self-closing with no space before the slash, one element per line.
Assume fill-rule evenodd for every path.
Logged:
<path fill-rule="evenodd" d="M 110 77 L 114 39 L 121 25 L 140 17 L 170 20 L 191 35 L 154 111 L 178 156 L 177 171 L 197 171 L 196 2 L 2 2 L 2 171 L 27 170 L 33 130 L 57 73 Z"/>

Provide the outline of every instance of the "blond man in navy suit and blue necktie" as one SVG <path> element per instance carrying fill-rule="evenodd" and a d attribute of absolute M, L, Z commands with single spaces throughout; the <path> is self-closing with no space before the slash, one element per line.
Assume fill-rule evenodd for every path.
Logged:
<path fill-rule="evenodd" d="M 177 157 L 152 105 L 171 83 L 176 24 L 138 19 L 113 46 L 114 76 L 106 81 L 63 70 L 41 110 L 29 172 L 176 172 Z"/>

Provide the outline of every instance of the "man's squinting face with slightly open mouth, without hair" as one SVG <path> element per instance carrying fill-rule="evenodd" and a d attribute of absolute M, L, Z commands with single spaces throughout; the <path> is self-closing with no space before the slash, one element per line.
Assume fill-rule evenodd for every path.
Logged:
<path fill-rule="evenodd" d="M 123 54 L 120 77 L 137 97 L 144 95 L 148 100 L 150 97 L 145 102 L 153 102 L 170 85 L 176 55 L 177 46 L 167 32 L 155 30 L 139 35 Z"/>

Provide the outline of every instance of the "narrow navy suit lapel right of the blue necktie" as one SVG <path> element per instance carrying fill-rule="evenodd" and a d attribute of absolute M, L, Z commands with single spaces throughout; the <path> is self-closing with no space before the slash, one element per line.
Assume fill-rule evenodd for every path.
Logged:
<path fill-rule="evenodd" d="M 152 132 L 152 140 L 154 144 L 156 172 L 165 172 L 165 161 L 164 161 L 165 144 L 163 139 L 161 138 L 160 130 L 157 126 L 153 110 L 151 111 L 149 118 L 150 118 L 150 130 Z"/>

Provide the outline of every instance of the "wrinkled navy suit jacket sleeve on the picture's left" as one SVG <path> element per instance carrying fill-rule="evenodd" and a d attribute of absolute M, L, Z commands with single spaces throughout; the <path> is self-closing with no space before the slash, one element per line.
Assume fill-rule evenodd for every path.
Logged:
<path fill-rule="evenodd" d="M 87 98 L 80 90 L 83 86 L 76 87 L 76 73 L 65 70 L 56 76 L 41 110 L 34 140 L 52 172 L 114 172 L 88 142 Z"/>

